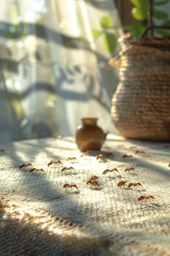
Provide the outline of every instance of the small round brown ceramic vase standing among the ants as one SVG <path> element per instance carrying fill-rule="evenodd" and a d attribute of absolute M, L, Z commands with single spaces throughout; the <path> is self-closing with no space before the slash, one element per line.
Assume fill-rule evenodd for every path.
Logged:
<path fill-rule="evenodd" d="M 98 127 L 98 118 L 81 118 L 82 126 L 77 127 L 75 135 L 77 147 L 80 151 L 100 150 L 107 133 Z"/>

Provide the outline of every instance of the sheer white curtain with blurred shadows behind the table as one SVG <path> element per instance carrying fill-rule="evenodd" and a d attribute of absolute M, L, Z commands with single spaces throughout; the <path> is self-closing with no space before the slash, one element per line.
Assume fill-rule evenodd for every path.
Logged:
<path fill-rule="evenodd" d="M 0 141 L 74 135 L 83 116 L 113 132 L 118 74 L 91 30 L 120 24 L 115 1 L 1 1 Z"/>

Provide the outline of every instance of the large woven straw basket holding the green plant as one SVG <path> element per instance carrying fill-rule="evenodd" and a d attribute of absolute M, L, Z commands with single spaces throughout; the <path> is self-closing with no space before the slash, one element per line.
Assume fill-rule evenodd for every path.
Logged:
<path fill-rule="evenodd" d="M 170 140 L 170 39 L 120 39 L 111 117 L 125 138 Z"/>

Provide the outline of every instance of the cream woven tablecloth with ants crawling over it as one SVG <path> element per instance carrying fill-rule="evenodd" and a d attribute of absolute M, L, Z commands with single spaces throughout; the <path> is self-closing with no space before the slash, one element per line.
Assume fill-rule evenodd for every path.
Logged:
<path fill-rule="evenodd" d="M 98 151 L 77 150 L 74 138 L 0 150 L 0 255 L 170 255 L 169 143 L 109 135 L 102 151 L 113 155 L 99 159 Z M 48 166 L 51 160 L 61 163 Z M 94 175 L 99 187 L 86 184 Z"/>

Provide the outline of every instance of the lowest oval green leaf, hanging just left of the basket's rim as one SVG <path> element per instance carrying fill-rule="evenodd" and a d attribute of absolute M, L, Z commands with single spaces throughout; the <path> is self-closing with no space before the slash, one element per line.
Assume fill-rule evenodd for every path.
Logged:
<path fill-rule="evenodd" d="M 115 37 L 115 34 L 105 33 L 102 43 L 103 43 L 104 50 L 107 53 L 110 53 L 110 54 L 113 53 L 117 46 L 117 39 Z"/>

